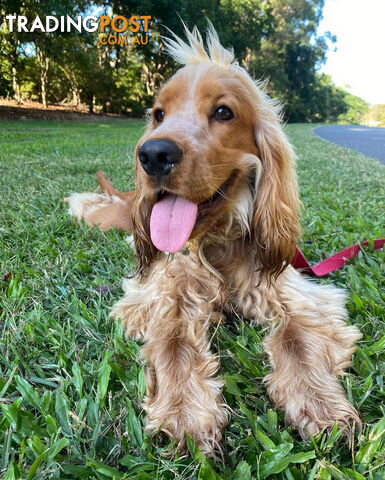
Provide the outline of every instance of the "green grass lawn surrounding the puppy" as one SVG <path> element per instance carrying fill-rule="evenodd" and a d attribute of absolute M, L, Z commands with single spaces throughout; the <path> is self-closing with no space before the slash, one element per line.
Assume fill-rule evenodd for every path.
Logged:
<path fill-rule="evenodd" d="M 135 259 L 123 233 L 102 234 L 67 215 L 62 199 L 96 186 L 103 169 L 133 186 L 143 122 L 0 122 L 0 478 L 385 478 L 385 281 L 383 252 L 360 253 L 321 280 L 346 288 L 363 332 L 349 399 L 363 434 L 350 451 L 339 432 L 303 442 L 285 426 L 262 383 L 264 331 L 229 319 L 214 334 L 233 409 L 223 458 L 167 458 L 143 434 L 145 384 L 138 343 L 108 318 Z M 385 167 L 329 144 L 311 125 L 289 125 L 298 154 L 305 254 L 319 261 L 385 235 Z"/>

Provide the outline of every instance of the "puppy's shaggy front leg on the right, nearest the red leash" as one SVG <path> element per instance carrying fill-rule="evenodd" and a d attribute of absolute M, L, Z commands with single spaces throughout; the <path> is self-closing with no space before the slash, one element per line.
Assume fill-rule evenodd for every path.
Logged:
<path fill-rule="evenodd" d="M 286 420 L 303 438 L 335 422 L 350 435 L 360 419 L 337 377 L 350 365 L 361 334 L 345 322 L 344 292 L 288 267 L 270 289 L 246 293 L 238 299 L 242 313 L 272 325 L 264 342 L 273 367 L 266 381 Z"/>

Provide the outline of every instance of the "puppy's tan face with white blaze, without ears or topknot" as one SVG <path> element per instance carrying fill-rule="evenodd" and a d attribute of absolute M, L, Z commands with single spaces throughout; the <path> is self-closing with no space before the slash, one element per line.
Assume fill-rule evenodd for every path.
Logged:
<path fill-rule="evenodd" d="M 165 203 L 168 197 L 182 205 L 174 216 L 193 216 L 191 204 L 197 206 L 195 222 L 189 219 L 194 223 L 189 238 L 224 215 L 226 203 L 249 175 L 245 154 L 257 155 L 257 147 L 255 113 L 246 97 L 241 79 L 228 68 L 186 66 L 160 91 L 138 143 L 137 183 L 150 204 Z M 168 208 L 157 213 L 167 217 L 172 213 Z"/>

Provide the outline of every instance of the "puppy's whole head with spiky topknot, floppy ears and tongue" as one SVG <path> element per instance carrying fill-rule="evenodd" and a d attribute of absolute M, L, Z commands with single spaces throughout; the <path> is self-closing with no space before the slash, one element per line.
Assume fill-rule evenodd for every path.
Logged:
<path fill-rule="evenodd" d="M 277 274 L 299 233 L 293 154 L 279 109 L 209 27 L 189 44 L 166 40 L 185 66 L 162 88 L 136 148 L 133 210 L 139 267 L 176 252 L 229 217 L 257 245 L 262 271 Z"/>

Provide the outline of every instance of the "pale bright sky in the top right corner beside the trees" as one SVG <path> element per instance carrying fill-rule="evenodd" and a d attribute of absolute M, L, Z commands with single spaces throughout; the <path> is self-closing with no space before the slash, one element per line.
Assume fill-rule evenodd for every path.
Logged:
<path fill-rule="evenodd" d="M 321 72 L 368 103 L 385 104 L 385 0 L 326 0 L 323 17 L 318 34 L 329 31 L 337 42 Z"/>

